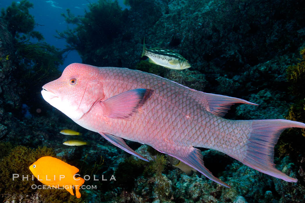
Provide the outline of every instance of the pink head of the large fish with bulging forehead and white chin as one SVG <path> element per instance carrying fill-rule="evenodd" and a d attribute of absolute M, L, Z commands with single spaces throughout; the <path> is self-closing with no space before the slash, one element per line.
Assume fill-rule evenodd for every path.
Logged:
<path fill-rule="evenodd" d="M 94 66 L 72 63 L 60 78 L 42 87 L 42 97 L 72 120 L 78 120 L 104 97 L 97 71 Z"/>

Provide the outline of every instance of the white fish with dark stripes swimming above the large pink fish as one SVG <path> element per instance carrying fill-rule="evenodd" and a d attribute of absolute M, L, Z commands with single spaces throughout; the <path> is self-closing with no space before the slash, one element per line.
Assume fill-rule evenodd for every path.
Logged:
<path fill-rule="evenodd" d="M 145 46 L 145 39 L 143 42 L 143 52 L 142 57 L 147 56 L 150 63 L 155 63 L 157 65 L 175 69 L 175 70 L 183 70 L 191 67 L 183 56 L 180 54 L 169 50 L 169 49 L 148 49 Z"/>

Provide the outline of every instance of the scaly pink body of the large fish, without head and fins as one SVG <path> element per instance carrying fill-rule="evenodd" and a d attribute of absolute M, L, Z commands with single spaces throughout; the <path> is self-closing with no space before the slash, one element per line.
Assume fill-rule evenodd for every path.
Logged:
<path fill-rule="evenodd" d="M 168 154 L 192 146 L 215 149 L 234 158 L 246 151 L 244 121 L 226 120 L 206 111 L 198 100 L 200 92 L 141 71 L 95 68 L 103 83 L 104 100 L 131 89 L 145 88 L 151 93 L 127 119 L 105 123 L 101 117 L 96 132 L 145 143 Z M 93 125 L 96 128 L 96 123 Z"/>

